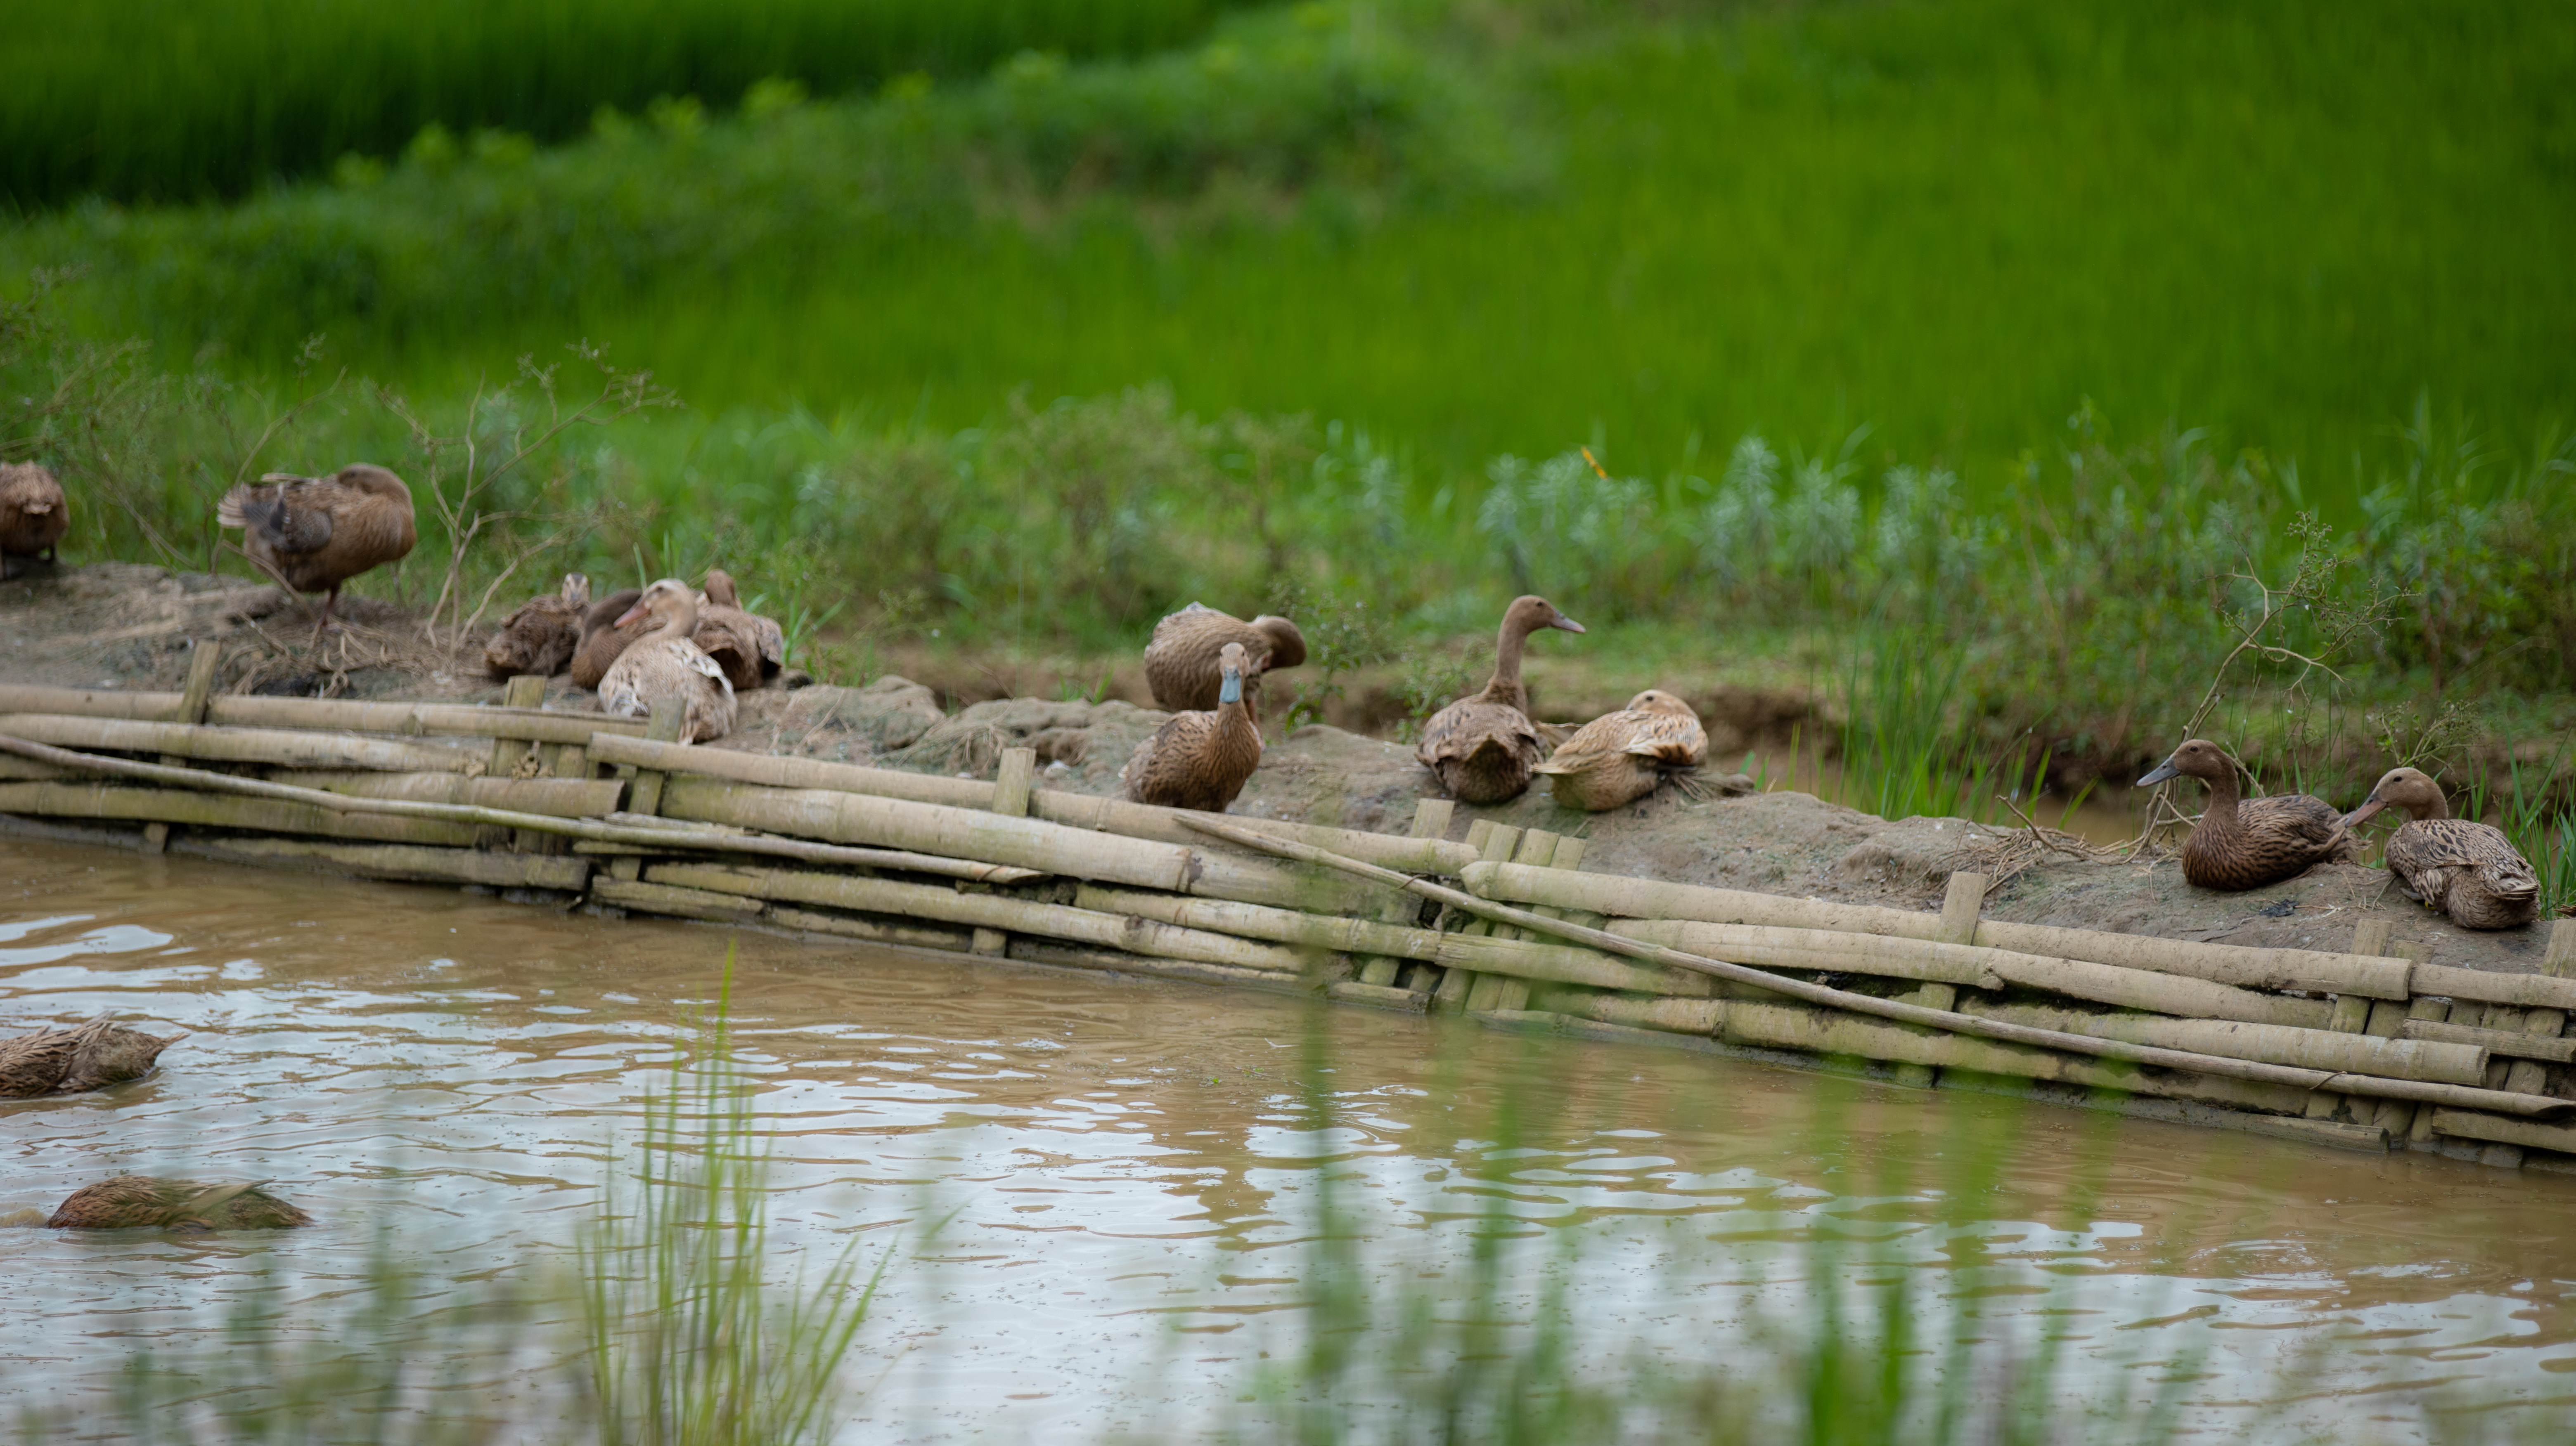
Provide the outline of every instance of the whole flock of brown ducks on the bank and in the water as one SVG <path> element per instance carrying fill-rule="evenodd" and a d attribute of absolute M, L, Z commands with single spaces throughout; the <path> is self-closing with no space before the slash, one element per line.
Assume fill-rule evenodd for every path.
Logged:
<path fill-rule="evenodd" d="M 392 471 L 353 463 L 330 476 L 270 473 L 234 486 L 216 507 L 242 530 L 242 553 L 278 584 L 325 594 L 314 636 L 330 625 L 348 579 L 399 561 L 417 540 L 410 486 Z M 62 484 L 41 466 L 0 466 L 0 576 L 28 561 L 54 561 L 70 530 Z M 1414 756 L 1461 803 L 1497 805 L 1548 780 L 1564 808 L 1600 813 L 1651 795 L 1708 756 L 1700 715 L 1664 690 L 1646 690 L 1618 713 L 1579 728 L 1538 723 L 1520 682 L 1528 643 L 1540 630 L 1582 633 L 1546 597 L 1515 597 L 1494 638 L 1494 677 L 1422 726 Z M 484 648 L 492 677 L 569 674 L 595 690 L 605 713 L 644 718 L 680 705 L 680 738 L 726 736 L 737 692 L 778 679 L 786 636 L 747 612 L 724 571 L 703 587 L 659 579 L 590 599 L 590 579 L 564 576 L 559 592 L 528 599 Z M 1121 769 L 1136 803 L 1224 813 L 1262 764 L 1262 677 L 1306 661 L 1306 638 L 1288 618 L 1249 623 L 1193 602 L 1154 625 L 1144 648 L 1146 684 L 1170 718 Z M 2442 787 L 2414 767 L 2388 769 L 2352 810 L 2306 792 L 2244 798 L 2239 764 L 2208 738 L 2190 738 L 2141 787 L 2169 780 L 2208 785 L 2208 808 L 2182 844 L 2182 877 L 2195 888 L 2249 890 L 2298 877 L 2321 862 L 2357 862 L 2360 828 L 2385 810 L 2406 821 L 2388 836 L 2396 885 L 2463 929 L 2532 924 L 2540 880 L 2501 828 L 2452 818 Z M 0 1042 L 0 1096 L 98 1088 L 149 1068 L 165 1039 L 93 1021 L 80 1032 L 39 1032 Z M 95 1075 L 95 1078 L 93 1078 Z M 82 1189 L 46 1225 L 62 1227 L 286 1227 L 309 1217 L 258 1186 L 201 1186 L 121 1176 Z"/>

